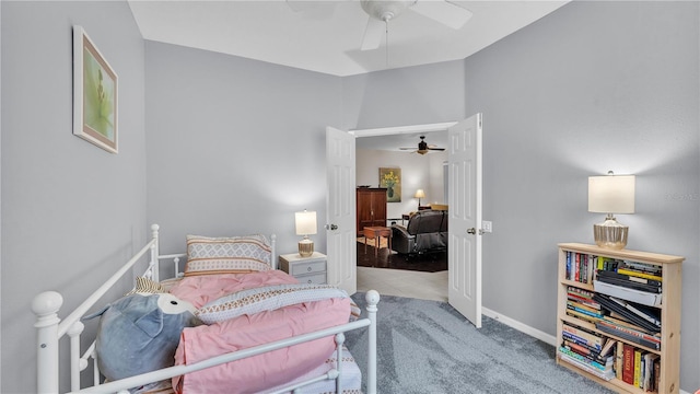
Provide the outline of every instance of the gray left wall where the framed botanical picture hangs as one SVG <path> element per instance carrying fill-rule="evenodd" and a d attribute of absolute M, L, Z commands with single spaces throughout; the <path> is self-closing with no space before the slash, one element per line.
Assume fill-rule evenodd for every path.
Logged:
<path fill-rule="evenodd" d="M 34 296 L 59 291 L 71 310 L 147 240 L 143 40 L 126 2 L 0 7 L 0 391 L 31 393 Z M 119 76 L 119 154 L 72 135 L 73 24 L 85 28 Z"/>

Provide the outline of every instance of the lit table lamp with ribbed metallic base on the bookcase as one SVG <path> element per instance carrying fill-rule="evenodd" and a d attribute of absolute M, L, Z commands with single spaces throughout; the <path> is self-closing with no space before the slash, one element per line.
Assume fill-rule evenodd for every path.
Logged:
<path fill-rule="evenodd" d="M 615 213 L 634 213 L 634 175 L 588 176 L 588 212 L 607 213 L 605 221 L 593 224 L 596 245 L 612 250 L 627 246 L 629 228 Z"/>

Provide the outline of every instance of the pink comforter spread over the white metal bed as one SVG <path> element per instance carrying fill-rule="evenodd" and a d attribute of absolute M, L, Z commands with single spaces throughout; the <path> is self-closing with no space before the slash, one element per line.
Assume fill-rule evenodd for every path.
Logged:
<path fill-rule="evenodd" d="M 295 283 L 277 270 L 245 275 L 186 277 L 171 292 L 200 308 L 234 291 Z M 213 356 L 348 322 L 350 299 L 328 299 L 243 315 L 212 325 L 185 328 L 175 364 L 190 364 Z M 335 348 L 332 337 L 300 344 L 173 379 L 178 393 L 255 393 L 289 382 L 322 364 Z"/>

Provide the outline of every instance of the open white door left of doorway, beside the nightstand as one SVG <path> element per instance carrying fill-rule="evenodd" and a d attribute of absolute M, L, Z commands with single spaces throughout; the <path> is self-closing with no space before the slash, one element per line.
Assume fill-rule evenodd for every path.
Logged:
<path fill-rule="evenodd" d="M 354 202 L 354 136 L 326 128 L 327 281 L 349 294 L 358 291 Z"/>

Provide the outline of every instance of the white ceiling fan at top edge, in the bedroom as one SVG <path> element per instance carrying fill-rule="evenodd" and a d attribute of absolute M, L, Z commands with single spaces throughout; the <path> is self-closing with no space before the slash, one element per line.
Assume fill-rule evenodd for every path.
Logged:
<path fill-rule="evenodd" d="M 419 13 L 454 30 L 459 30 L 471 18 L 471 11 L 447 0 L 361 0 L 364 12 L 370 15 L 364 30 L 361 50 L 376 49 L 388 31 L 388 22 L 405 11 Z"/>

